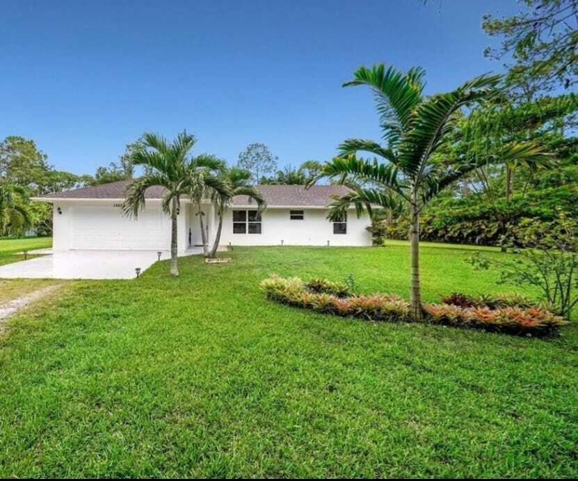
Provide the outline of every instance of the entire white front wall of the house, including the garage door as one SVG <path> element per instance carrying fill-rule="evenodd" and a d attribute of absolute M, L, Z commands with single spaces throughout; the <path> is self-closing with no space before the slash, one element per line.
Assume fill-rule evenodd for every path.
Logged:
<path fill-rule="evenodd" d="M 118 200 L 62 200 L 54 202 L 53 249 L 95 250 L 170 250 L 170 217 L 161 212 L 160 201 L 147 200 L 145 210 L 138 219 L 122 214 Z M 60 207 L 62 214 L 58 214 Z M 209 226 L 209 246 L 212 246 L 218 220 L 209 205 L 205 223 Z M 253 207 L 254 209 L 254 207 Z M 234 234 L 233 210 L 225 212 L 220 244 L 234 246 L 311 245 L 370 246 L 371 235 L 367 214 L 359 219 L 355 212 L 348 212 L 347 233 L 334 234 L 326 209 L 303 209 L 303 220 L 291 220 L 291 209 L 269 208 L 262 213 L 261 234 Z M 296 209 L 293 209 L 296 210 Z M 189 248 L 189 229 L 198 230 L 198 217 L 193 205 L 184 203 L 178 217 L 179 253 Z"/>

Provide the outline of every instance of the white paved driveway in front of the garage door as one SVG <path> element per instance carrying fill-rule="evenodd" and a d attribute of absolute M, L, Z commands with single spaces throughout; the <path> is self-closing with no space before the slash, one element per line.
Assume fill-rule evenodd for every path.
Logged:
<path fill-rule="evenodd" d="M 159 259 L 156 251 L 66 251 L 0 266 L 0 278 L 35 279 L 132 279 L 135 269 L 141 273 Z M 187 251 L 200 254 L 202 249 Z M 32 252 L 31 252 L 32 253 Z M 170 258 L 163 252 L 161 260 Z"/>

